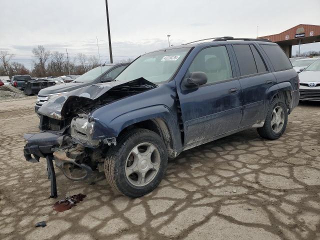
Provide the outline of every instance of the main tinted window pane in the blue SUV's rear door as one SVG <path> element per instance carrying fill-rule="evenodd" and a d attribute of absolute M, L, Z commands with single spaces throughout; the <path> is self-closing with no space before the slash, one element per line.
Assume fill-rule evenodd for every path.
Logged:
<path fill-rule="evenodd" d="M 248 44 L 232 45 L 241 76 L 257 73 L 252 51 Z"/>

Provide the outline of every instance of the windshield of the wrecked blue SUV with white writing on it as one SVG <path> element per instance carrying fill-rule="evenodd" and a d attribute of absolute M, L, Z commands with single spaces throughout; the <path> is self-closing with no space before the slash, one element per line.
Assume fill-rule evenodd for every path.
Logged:
<path fill-rule="evenodd" d="M 183 47 L 144 54 L 128 65 L 115 80 L 130 81 L 143 77 L 155 84 L 166 82 L 174 74 L 189 49 Z"/>

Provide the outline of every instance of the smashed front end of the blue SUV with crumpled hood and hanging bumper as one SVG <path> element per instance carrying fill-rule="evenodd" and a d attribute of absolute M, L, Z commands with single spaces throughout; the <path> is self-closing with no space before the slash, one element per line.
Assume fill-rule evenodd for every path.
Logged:
<path fill-rule="evenodd" d="M 31 162 L 39 161 L 39 157 L 47 159 L 52 197 L 56 195 L 52 160 L 67 178 L 84 180 L 95 169 L 103 171 L 104 153 L 110 144 L 116 144 L 115 137 L 92 139 L 98 119 L 91 113 L 101 106 L 155 87 L 157 85 L 144 78 L 94 84 L 48 100 L 39 108 L 41 133 L 24 135 L 27 140 L 24 156 Z"/>

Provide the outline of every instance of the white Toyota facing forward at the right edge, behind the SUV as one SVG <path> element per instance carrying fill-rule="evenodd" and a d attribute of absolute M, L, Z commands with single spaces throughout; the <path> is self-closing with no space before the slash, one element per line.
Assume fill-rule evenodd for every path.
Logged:
<path fill-rule="evenodd" d="M 320 59 L 299 73 L 300 100 L 320 101 Z"/>

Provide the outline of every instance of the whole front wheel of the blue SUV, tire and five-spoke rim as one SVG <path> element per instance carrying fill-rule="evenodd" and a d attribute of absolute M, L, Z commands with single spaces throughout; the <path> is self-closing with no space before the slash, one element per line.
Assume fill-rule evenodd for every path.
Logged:
<path fill-rule="evenodd" d="M 162 138 L 147 129 L 131 129 L 111 146 L 104 161 L 108 183 L 129 197 L 152 191 L 162 180 L 167 151 Z"/>

